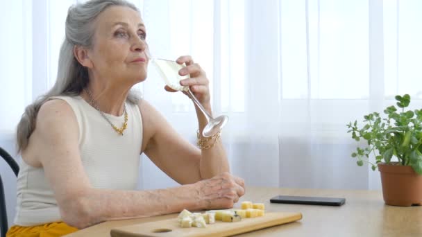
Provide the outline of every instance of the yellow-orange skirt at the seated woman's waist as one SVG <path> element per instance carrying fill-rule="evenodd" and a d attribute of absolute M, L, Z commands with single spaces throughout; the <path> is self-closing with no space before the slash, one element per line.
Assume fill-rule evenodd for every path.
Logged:
<path fill-rule="evenodd" d="M 21 227 L 14 225 L 10 227 L 6 237 L 56 237 L 78 231 L 75 227 L 66 225 L 65 222 L 52 222 L 34 227 Z"/>

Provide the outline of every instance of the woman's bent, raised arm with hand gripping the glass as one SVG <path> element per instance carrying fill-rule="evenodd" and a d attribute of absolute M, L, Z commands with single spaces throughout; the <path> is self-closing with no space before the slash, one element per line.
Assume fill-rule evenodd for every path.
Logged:
<path fill-rule="evenodd" d="M 181 76 L 189 74 L 190 76 L 190 78 L 182 80 L 181 84 L 189 86 L 196 98 L 201 102 L 201 105 L 209 114 L 212 114 L 209 82 L 203 69 L 201 69 L 199 64 L 194 64 L 190 56 L 182 56 L 178 58 L 177 62 L 187 65 L 187 67 L 180 69 L 179 74 Z M 170 87 L 165 87 L 165 89 L 174 92 Z M 151 137 L 149 141 L 146 141 L 148 145 L 144 150 L 145 154 L 164 173 L 167 173 L 179 184 L 192 184 L 201 179 L 208 179 L 221 173 L 230 172 L 226 151 L 220 139 L 217 139 L 211 148 L 199 150 L 199 148 L 192 146 L 183 137 L 180 137 L 162 115 L 146 101 L 141 101 L 140 109 L 144 128 L 154 128 L 151 134 L 144 136 L 147 139 Z M 199 123 L 199 133 L 201 134 L 203 128 L 207 125 L 207 121 L 197 107 L 196 114 Z M 192 133 L 196 133 L 196 131 L 192 130 Z M 213 142 L 210 141 L 208 144 Z"/>

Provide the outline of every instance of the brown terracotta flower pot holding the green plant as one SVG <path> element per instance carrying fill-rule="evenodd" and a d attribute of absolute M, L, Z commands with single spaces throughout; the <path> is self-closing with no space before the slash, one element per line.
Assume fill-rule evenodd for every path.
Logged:
<path fill-rule="evenodd" d="M 400 166 L 397 162 L 380 163 L 378 170 L 385 204 L 402 207 L 422 205 L 422 175 L 415 173 L 412 166 Z"/>

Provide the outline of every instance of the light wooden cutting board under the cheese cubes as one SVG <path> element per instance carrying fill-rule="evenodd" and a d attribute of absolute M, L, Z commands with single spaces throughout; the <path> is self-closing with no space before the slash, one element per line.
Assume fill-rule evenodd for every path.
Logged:
<path fill-rule="evenodd" d="M 243 218 L 239 222 L 216 221 L 205 228 L 182 228 L 177 218 L 128 225 L 112 229 L 112 237 L 140 237 L 140 236 L 233 236 L 257 229 L 273 227 L 302 219 L 302 213 L 270 212 L 257 218 Z"/>

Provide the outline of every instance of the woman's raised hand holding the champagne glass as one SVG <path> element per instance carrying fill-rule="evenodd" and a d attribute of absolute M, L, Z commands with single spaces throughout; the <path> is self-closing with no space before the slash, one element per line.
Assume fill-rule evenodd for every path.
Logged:
<path fill-rule="evenodd" d="M 178 64 L 186 64 L 186 67 L 180 69 L 179 75 L 186 76 L 189 75 L 190 78 L 180 80 L 180 85 L 189 86 L 190 90 L 194 94 L 194 96 L 201 102 L 205 108 L 210 107 L 210 87 L 209 80 L 205 74 L 205 71 L 201 69 L 199 64 L 194 63 L 191 56 L 181 56 L 176 60 Z M 164 87 L 167 91 L 174 92 L 174 89 L 171 89 L 166 85 Z M 185 93 L 186 94 L 186 93 Z"/>

